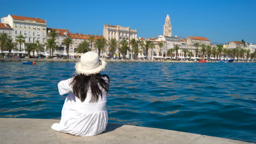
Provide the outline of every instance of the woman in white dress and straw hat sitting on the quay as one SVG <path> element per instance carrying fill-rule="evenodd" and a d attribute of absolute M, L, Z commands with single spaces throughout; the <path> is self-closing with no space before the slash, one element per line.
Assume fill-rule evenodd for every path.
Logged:
<path fill-rule="evenodd" d="M 51 128 L 76 136 L 102 133 L 108 123 L 106 109 L 109 77 L 101 75 L 106 62 L 96 52 L 86 52 L 75 64 L 77 75 L 58 83 L 60 95 L 68 93 L 60 123 Z"/>

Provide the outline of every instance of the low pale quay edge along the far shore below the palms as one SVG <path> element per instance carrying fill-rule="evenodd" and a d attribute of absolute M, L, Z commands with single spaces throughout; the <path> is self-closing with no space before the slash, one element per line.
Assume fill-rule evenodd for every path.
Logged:
<path fill-rule="evenodd" d="M 0 58 L 0 62 L 77 62 L 76 59 L 61 59 L 61 58 Z M 170 62 L 170 63 L 198 63 L 198 61 L 159 61 L 159 60 L 135 60 L 135 59 L 105 59 L 106 62 Z M 208 61 L 207 63 L 216 63 L 215 61 Z M 255 63 L 245 61 L 234 61 L 233 63 Z"/>

